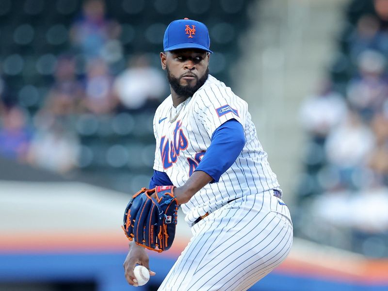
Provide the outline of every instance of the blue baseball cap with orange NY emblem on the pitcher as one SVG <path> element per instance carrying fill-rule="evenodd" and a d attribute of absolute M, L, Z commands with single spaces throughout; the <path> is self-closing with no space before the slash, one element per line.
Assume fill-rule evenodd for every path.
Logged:
<path fill-rule="evenodd" d="M 203 49 L 212 53 L 209 31 L 205 24 L 189 18 L 171 22 L 164 32 L 164 51 L 174 49 Z"/>

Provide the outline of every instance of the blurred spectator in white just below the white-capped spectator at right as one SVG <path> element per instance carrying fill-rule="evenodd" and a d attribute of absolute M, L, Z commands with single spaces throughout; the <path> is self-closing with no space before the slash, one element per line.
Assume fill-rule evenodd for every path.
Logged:
<path fill-rule="evenodd" d="M 341 181 L 352 186 L 352 176 L 364 166 L 373 146 L 372 131 L 357 113 L 349 112 L 346 120 L 327 136 L 325 151 L 328 161 L 339 169 Z"/>

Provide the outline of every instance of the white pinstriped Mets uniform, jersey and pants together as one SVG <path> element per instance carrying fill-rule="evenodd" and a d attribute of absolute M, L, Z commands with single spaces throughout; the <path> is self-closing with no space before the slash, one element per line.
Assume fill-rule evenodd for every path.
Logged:
<path fill-rule="evenodd" d="M 247 103 L 209 76 L 193 97 L 177 108 L 172 105 L 169 96 L 155 113 L 154 169 L 165 172 L 175 186 L 187 181 L 213 132 L 227 120 L 242 124 L 246 143 L 217 183 L 206 185 L 181 206 L 193 237 L 159 290 L 248 290 L 287 257 L 292 222 Z M 193 224 L 206 212 L 210 215 Z"/>

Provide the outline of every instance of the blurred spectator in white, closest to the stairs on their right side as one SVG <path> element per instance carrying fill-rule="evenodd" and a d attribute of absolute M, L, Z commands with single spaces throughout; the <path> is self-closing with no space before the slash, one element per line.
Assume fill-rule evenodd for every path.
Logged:
<path fill-rule="evenodd" d="M 307 97 L 299 113 L 302 126 L 313 137 L 325 138 L 346 114 L 344 98 L 332 91 L 331 82 L 324 80 L 317 94 Z"/>

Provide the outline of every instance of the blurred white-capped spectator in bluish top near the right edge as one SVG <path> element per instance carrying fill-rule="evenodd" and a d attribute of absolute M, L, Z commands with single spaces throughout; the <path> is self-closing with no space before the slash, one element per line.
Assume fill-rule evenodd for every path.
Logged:
<path fill-rule="evenodd" d="M 362 52 L 358 60 L 360 77 L 348 85 L 349 102 L 364 119 L 372 118 L 387 99 L 388 86 L 383 78 L 385 63 L 386 58 L 377 51 Z"/>

